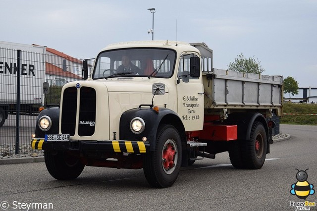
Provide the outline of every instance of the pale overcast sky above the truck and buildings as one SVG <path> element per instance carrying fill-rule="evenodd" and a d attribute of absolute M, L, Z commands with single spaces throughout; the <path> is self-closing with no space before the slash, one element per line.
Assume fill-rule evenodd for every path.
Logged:
<path fill-rule="evenodd" d="M 214 68 L 238 54 L 267 75 L 317 87 L 317 0 L 0 0 L 0 41 L 38 44 L 92 58 L 123 41 L 204 42 Z M 177 23 L 177 24 L 176 24 Z M 177 25 L 177 27 L 176 27 Z"/>

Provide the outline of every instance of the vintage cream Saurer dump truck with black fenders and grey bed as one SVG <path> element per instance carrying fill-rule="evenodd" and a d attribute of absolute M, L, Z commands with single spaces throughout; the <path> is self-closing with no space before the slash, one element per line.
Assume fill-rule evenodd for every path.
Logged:
<path fill-rule="evenodd" d="M 107 46 L 89 77 L 84 60 L 87 80 L 65 84 L 60 106 L 40 113 L 33 149 L 45 151 L 60 180 L 85 165 L 143 168 L 151 186 L 164 188 L 181 166 L 225 151 L 236 168 L 261 168 L 283 78 L 214 69 L 212 53 L 204 43 Z"/>

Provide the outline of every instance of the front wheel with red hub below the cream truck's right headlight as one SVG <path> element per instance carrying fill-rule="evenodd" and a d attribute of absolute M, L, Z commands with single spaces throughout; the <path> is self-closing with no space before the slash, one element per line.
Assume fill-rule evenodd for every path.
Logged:
<path fill-rule="evenodd" d="M 181 140 L 176 128 L 168 124 L 161 125 L 155 151 L 150 151 L 143 158 L 143 171 L 151 186 L 172 186 L 182 162 Z"/>

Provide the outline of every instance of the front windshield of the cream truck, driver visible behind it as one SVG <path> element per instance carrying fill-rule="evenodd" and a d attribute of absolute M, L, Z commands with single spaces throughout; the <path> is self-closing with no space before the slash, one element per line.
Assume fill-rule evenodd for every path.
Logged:
<path fill-rule="evenodd" d="M 168 49 L 119 49 L 99 54 L 93 79 L 111 77 L 160 77 L 173 74 L 175 52 Z"/>

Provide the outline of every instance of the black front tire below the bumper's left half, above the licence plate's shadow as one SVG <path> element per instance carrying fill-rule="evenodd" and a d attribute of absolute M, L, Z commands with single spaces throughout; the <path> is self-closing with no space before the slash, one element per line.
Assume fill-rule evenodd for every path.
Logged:
<path fill-rule="evenodd" d="M 85 165 L 79 158 L 64 151 L 44 151 L 45 164 L 50 174 L 59 180 L 76 179 Z"/>

